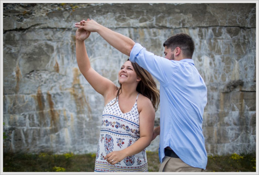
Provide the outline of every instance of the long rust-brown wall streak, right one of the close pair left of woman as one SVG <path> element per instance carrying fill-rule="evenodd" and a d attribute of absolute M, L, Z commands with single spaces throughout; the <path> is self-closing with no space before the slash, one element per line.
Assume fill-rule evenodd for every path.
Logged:
<path fill-rule="evenodd" d="M 59 123 L 59 116 L 58 116 L 58 113 L 57 111 L 54 109 L 54 103 L 52 101 L 52 97 L 51 97 L 51 94 L 49 92 L 47 92 L 47 99 L 48 99 L 48 103 L 49 103 L 49 113 L 50 113 L 50 116 L 51 116 L 51 122 L 50 122 L 50 125 L 51 125 L 51 129 L 53 132 L 58 132 L 58 123 Z"/>

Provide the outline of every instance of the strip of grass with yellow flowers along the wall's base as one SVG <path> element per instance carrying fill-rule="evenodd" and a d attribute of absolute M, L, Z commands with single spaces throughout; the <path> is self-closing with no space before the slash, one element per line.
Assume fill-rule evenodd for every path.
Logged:
<path fill-rule="evenodd" d="M 148 171 L 158 172 L 160 163 L 158 152 L 147 151 Z M 74 155 L 66 153 L 22 154 L 4 153 L 4 172 L 93 172 L 95 153 Z M 255 172 L 254 154 L 232 154 L 208 156 L 206 172 Z"/>

